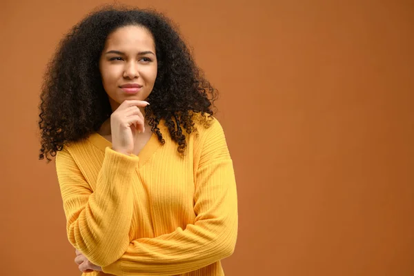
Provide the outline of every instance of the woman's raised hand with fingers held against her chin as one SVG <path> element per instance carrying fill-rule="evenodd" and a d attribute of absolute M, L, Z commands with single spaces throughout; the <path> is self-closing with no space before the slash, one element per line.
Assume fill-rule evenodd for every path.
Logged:
<path fill-rule="evenodd" d="M 110 115 L 112 150 L 130 155 L 134 150 L 136 132 L 144 132 L 144 116 L 139 107 L 147 101 L 126 100 Z"/>

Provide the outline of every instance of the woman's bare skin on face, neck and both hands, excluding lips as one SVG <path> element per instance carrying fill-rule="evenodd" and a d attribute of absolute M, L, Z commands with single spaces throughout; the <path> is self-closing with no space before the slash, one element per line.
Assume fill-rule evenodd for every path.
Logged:
<path fill-rule="evenodd" d="M 112 32 L 99 59 L 99 71 L 112 108 L 112 115 L 102 124 L 99 134 L 112 142 L 112 150 L 138 155 L 152 135 L 144 119 L 144 108 L 149 104 L 145 100 L 157 78 L 152 34 L 141 26 L 125 26 Z M 126 83 L 142 87 L 131 95 L 120 88 Z M 76 254 L 75 263 L 82 272 L 102 270 L 79 250 Z"/>

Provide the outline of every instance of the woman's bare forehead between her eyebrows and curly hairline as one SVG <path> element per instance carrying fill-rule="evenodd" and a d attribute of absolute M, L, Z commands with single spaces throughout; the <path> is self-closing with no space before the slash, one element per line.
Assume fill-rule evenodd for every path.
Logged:
<path fill-rule="evenodd" d="M 121 27 L 108 35 L 107 50 L 155 50 L 154 39 L 149 30 L 141 26 Z M 116 49 L 115 49 L 116 48 Z"/>

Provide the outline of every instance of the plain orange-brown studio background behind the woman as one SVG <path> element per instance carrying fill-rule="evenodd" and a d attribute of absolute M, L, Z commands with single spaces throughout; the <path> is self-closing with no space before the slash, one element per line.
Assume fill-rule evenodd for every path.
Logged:
<path fill-rule="evenodd" d="M 37 105 L 59 39 L 99 3 L 1 1 L 1 275 L 79 275 Z M 226 275 L 414 275 L 413 1 L 124 3 L 175 20 L 221 92 Z"/>

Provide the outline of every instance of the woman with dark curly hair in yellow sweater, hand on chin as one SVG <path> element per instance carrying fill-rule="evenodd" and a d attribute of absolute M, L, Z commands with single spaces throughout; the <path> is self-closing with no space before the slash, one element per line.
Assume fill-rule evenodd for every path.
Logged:
<path fill-rule="evenodd" d="M 224 275 L 237 191 L 216 90 L 152 10 L 92 12 L 61 41 L 41 94 L 75 262 L 90 275 Z"/>

